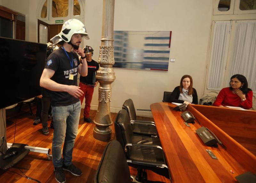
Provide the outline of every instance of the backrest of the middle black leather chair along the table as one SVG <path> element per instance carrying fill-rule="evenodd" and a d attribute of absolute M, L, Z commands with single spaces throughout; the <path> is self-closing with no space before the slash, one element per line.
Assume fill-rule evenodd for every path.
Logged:
<path fill-rule="evenodd" d="M 123 149 L 125 144 L 132 143 L 133 129 L 130 122 L 128 113 L 125 109 L 121 109 L 115 120 L 115 133 L 116 140 L 122 145 Z"/>

